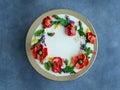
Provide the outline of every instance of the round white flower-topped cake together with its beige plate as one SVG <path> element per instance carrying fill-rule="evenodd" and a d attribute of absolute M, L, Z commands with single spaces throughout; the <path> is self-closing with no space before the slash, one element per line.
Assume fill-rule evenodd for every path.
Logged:
<path fill-rule="evenodd" d="M 85 18 L 69 10 L 59 11 L 65 12 L 48 12 L 33 23 L 26 46 L 29 60 L 39 73 L 53 80 L 63 77 L 59 81 L 64 81 L 88 70 L 96 56 L 97 37 Z"/>

